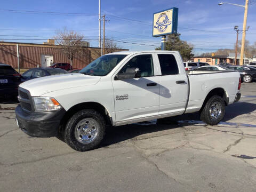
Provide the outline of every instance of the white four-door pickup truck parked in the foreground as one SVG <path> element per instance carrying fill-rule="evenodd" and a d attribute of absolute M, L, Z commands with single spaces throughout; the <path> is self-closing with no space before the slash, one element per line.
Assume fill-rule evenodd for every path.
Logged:
<path fill-rule="evenodd" d="M 119 126 L 200 111 L 218 124 L 225 106 L 238 101 L 238 72 L 187 75 L 176 51 L 116 52 L 76 74 L 32 79 L 19 86 L 20 129 L 33 137 L 62 132 L 78 151 L 102 141 L 107 125 Z"/>

